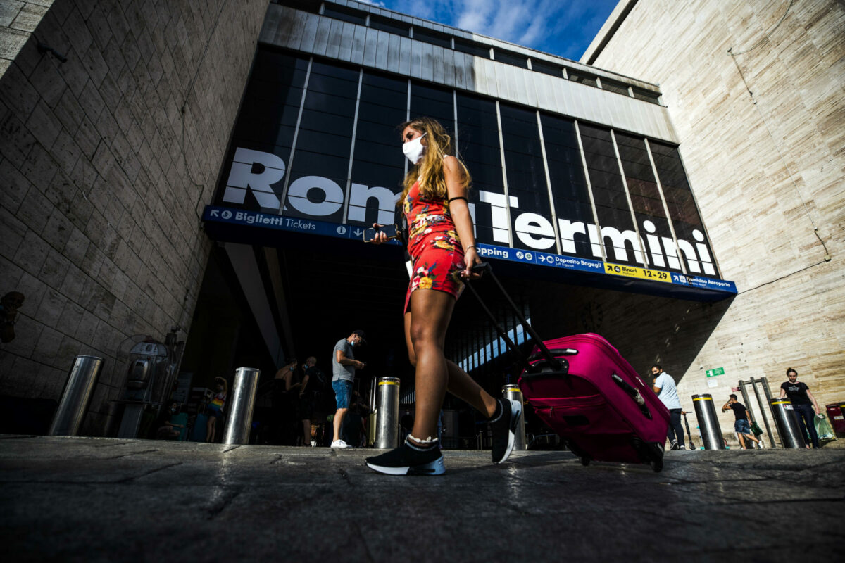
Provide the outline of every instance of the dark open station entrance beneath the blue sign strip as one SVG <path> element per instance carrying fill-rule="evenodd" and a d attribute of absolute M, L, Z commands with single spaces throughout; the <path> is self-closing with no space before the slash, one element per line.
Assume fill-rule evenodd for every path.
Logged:
<path fill-rule="evenodd" d="M 408 273 L 400 246 L 270 230 L 220 230 L 209 225 L 206 229 L 215 242 L 181 368 L 191 374 L 195 391 L 196 404 L 189 401 L 188 412 L 201 412 L 196 391 L 211 388 L 216 376 L 231 380 L 238 367 L 258 368 L 261 379 L 251 442 L 274 443 L 275 438 L 260 428 L 269 426 L 275 416 L 276 371 L 293 359 L 302 363 L 313 356 L 330 378 L 335 343 L 362 329 L 367 344 L 355 350 L 356 359 L 367 364 L 355 383 L 361 402 L 373 404 L 375 379 L 398 377 L 400 415 L 406 420 L 412 417 L 414 372 L 407 359 L 402 311 Z M 601 333 L 643 374 L 652 363 L 668 360 L 670 365 L 684 366 L 678 369 L 689 367 L 729 303 L 659 295 L 648 286 L 632 288 L 624 279 L 607 276 L 489 262 L 543 338 Z M 482 279 L 476 287 L 499 323 L 527 351 L 531 344 L 494 284 Z M 469 292 L 455 306 L 445 353 L 494 397 L 502 394 L 504 385 L 518 380 L 515 355 L 505 349 Z M 444 420 L 445 445 L 472 449 L 486 445 L 482 421 L 461 401 L 447 397 Z M 534 438 L 548 434 L 538 424 L 526 415 L 526 432 L 534 447 L 540 441 Z"/>

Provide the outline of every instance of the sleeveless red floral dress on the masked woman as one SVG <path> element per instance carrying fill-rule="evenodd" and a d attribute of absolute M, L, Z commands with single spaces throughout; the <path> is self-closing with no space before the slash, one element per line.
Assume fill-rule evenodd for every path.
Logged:
<path fill-rule="evenodd" d="M 457 299 L 464 290 L 457 273 L 466 265 L 446 201 L 423 198 L 417 181 L 408 191 L 403 210 L 408 221 L 408 253 L 412 260 L 405 311 L 411 310 L 413 290 L 445 291 Z"/>

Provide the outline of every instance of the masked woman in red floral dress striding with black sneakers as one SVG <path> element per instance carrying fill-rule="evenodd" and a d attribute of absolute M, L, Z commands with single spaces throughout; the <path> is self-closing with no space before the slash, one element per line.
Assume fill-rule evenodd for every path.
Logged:
<path fill-rule="evenodd" d="M 477 279 L 480 264 L 466 195 L 471 178 L 452 154 L 451 138 L 439 122 L 419 117 L 403 123 L 402 152 L 413 166 L 399 200 L 408 225 L 412 279 L 405 298 L 408 358 L 416 369 L 417 416 L 406 441 L 395 450 L 368 457 L 384 474 L 439 475 L 445 471 L 437 421 L 445 392 L 470 403 L 493 425 L 493 463 L 514 447 L 522 405 L 494 399 L 472 377 L 444 357 L 446 329 L 461 295 L 462 279 Z M 378 226 L 378 225 L 377 225 Z M 374 242 L 386 241 L 377 233 Z"/>

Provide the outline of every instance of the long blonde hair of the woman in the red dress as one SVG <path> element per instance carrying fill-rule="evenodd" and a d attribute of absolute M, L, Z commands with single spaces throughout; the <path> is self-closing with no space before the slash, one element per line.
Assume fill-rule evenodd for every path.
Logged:
<path fill-rule="evenodd" d="M 446 155 L 454 152 L 452 138 L 446 133 L 443 126 L 431 117 L 417 117 L 409 122 L 402 123 L 399 129 L 404 132 L 407 127 L 426 134 L 425 152 L 423 152 L 423 158 L 408 170 L 405 176 L 405 189 L 396 204 L 400 206 L 403 204 L 417 179 L 420 182 L 419 191 L 423 198 L 449 199 L 449 190 L 446 187 L 446 177 L 443 171 L 443 160 Z M 472 177 L 461 159 L 458 159 L 458 164 L 461 165 L 464 172 L 461 183 L 463 187 L 468 189 L 472 183 Z"/>

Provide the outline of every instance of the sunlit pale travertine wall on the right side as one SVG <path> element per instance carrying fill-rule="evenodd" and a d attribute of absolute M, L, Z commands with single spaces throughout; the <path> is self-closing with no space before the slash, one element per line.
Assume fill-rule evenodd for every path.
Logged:
<path fill-rule="evenodd" d="M 695 327 L 680 323 L 666 334 L 689 341 L 676 347 L 689 363 L 659 358 L 685 397 L 712 392 L 721 407 L 750 376 L 777 396 L 792 366 L 820 404 L 845 399 L 843 29 L 832 0 L 641 1 L 594 62 L 660 84 L 722 274 L 739 289 L 711 333 L 684 339 Z M 677 314 L 653 306 L 651 318 Z M 715 367 L 726 373 L 707 387 Z"/>

